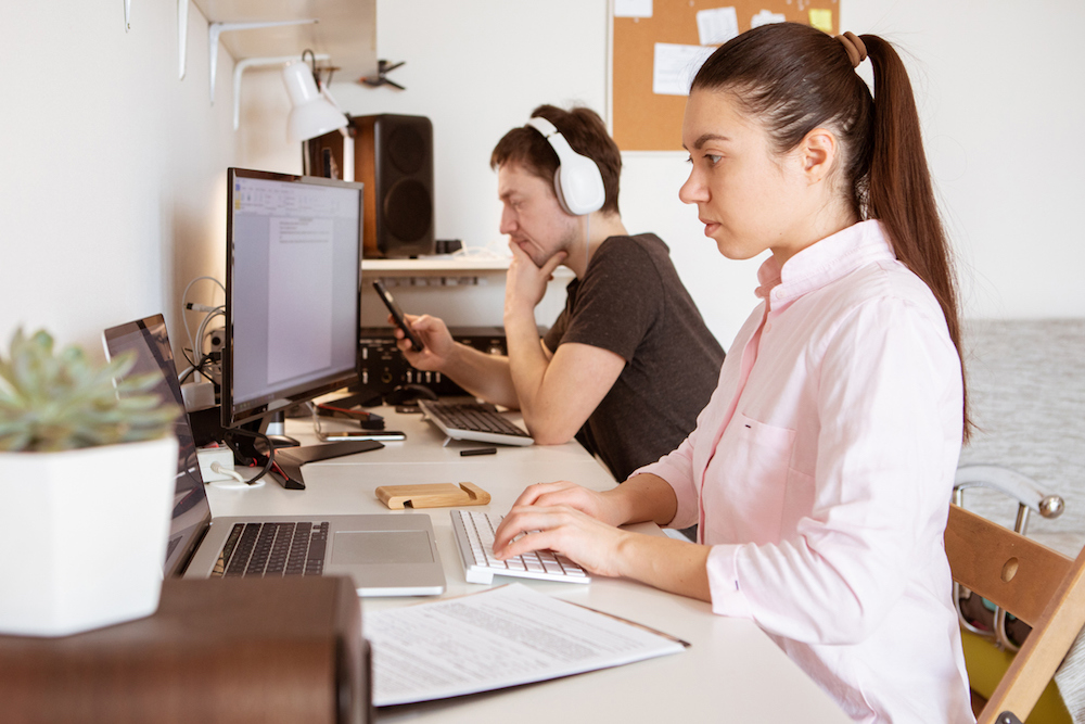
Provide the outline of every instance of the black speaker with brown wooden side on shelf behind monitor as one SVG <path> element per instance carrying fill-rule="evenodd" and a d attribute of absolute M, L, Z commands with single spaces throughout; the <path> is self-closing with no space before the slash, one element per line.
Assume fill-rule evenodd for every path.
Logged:
<path fill-rule="evenodd" d="M 350 119 L 354 179 L 366 185 L 363 256 L 434 253 L 433 125 L 425 116 Z"/>

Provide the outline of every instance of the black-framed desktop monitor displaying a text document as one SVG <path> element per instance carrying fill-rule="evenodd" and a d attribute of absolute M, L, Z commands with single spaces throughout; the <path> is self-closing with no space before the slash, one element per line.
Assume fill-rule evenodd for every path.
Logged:
<path fill-rule="evenodd" d="M 362 185 L 229 169 L 222 425 L 358 381 Z"/>

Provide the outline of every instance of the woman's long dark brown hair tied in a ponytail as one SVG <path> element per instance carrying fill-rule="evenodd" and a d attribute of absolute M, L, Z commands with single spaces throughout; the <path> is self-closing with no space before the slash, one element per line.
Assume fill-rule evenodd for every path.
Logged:
<path fill-rule="evenodd" d="M 876 35 L 859 38 L 873 66 L 873 97 L 841 41 L 797 23 L 763 25 L 731 39 L 701 66 L 690 92 L 732 92 L 779 153 L 794 149 L 815 128 L 835 132 L 841 149 L 837 183 L 859 218 L 882 223 L 897 258 L 937 299 L 963 374 L 953 258 L 911 82 L 889 42 Z M 963 416 L 967 441 L 967 386 Z"/>

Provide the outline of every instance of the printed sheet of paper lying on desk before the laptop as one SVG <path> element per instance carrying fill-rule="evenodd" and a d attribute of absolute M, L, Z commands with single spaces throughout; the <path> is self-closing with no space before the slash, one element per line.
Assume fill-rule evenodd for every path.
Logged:
<path fill-rule="evenodd" d="M 685 644 L 513 583 L 362 619 L 373 704 L 446 699 L 618 666 Z"/>

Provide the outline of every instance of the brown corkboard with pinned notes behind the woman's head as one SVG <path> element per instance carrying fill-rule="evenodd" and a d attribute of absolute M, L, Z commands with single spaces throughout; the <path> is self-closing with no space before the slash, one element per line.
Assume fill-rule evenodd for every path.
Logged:
<path fill-rule="evenodd" d="M 623 151 L 681 150 L 686 96 L 672 94 L 676 77 L 667 71 L 711 52 L 719 38 L 749 30 L 755 16 L 840 33 L 840 0 L 614 0 L 612 8 L 611 117 Z"/>

